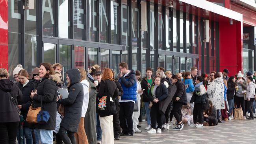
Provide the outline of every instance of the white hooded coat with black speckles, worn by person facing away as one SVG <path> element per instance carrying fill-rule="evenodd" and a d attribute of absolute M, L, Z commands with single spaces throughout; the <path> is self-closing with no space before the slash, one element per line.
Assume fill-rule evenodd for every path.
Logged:
<path fill-rule="evenodd" d="M 206 93 L 216 109 L 225 109 L 223 78 L 217 78 L 209 85 Z"/>

